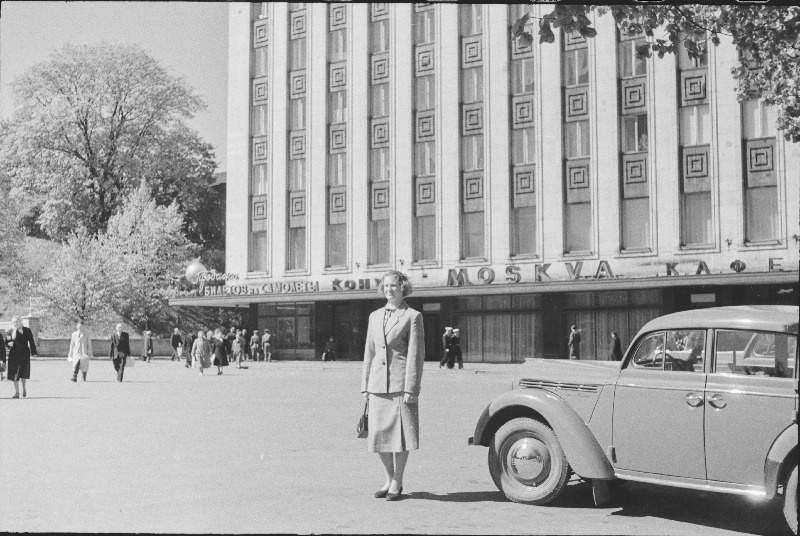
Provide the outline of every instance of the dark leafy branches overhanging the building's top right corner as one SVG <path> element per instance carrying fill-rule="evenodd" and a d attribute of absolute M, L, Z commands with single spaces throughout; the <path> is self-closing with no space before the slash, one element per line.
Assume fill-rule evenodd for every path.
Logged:
<path fill-rule="evenodd" d="M 624 5 L 594 6 L 559 4 L 539 19 L 539 42 L 553 43 L 554 28 L 592 38 L 597 30 L 587 16 L 611 13 L 623 34 L 643 33 L 647 41 L 640 56 L 659 58 L 675 53 L 679 46 L 690 58 L 731 39 L 740 52 L 732 70 L 740 99 L 762 98 L 777 111 L 777 129 L 787 141 L 800 141 L 800 7 L 761 5 Z M 533 42 L 531 13 L 512 28 L 513 37 Z"/>

